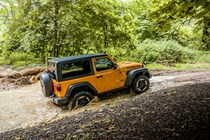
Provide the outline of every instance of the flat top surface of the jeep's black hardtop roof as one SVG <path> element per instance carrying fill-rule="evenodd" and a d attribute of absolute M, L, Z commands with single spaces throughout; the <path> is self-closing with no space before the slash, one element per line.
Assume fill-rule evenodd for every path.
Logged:
<path fill-rule="evenodd" d="M 94 57 L 100 57 L 100 56 L 108 56 L 107 54 L 84 54 L 84 55 L 78 55 L 78 56 L 68 56 L 63 58 L 54 58 L 49 60 L 49 62 L 52 63 L 58 63 L 58 62 L 64 62 L 64 61 L 72 61 L 72 60 L 79 60 L 79 59 L 86 59 L 86 58 L 94 58 Z"/>

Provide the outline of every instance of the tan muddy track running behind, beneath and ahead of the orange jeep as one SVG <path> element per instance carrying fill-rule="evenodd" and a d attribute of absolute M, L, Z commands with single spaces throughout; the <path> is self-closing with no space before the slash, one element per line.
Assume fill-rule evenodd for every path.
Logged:
<path fill-rule="evenodd" d="M 167 87 L 179 86 L 187 83 L 210 81 L 210 70 L 154 71 L 151 79 L 151 90 L 157 91 Z M 146 95 L 144 93 L 142 95 Z M 50 99 L 43 97 L 39 83 L 0 92 L 0 132 L 49 123 L 65 116 L 72 116 L 85 110 L 98 110 L 105 105 L 115 104 L 135 95 L 122 94 L 109 99 L 94 102 L 87 107 L 75 111 L 63 110 L 55 106 Z"/>

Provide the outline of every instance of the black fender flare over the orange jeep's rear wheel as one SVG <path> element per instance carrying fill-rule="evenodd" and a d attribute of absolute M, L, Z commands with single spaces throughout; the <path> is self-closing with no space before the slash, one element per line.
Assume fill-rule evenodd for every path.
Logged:
<path fill-rule="evenodd" d="M 70 85 L 66 91 L 66 98 L 70 99 L 73 95 L 73 90 L 76 89 L 76 88 L 80 88 L 80 87 L 84 87 L 84 86 L 87 86 L 88 88 L 90 88 L 93 93 L 92 95 L 96 95 L 98 93 L 98 91 L 88 82 L 81 82 L 81 83 L 76 83 L 76 84 L 73 84 L 73 85 Z"/>

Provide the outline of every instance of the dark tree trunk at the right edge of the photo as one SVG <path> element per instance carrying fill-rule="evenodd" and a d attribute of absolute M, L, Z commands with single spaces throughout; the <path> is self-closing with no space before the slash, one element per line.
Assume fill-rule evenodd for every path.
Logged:
<path fill-rule="evenodd" d="M 210 51 L 210 19 L 209 18 L 204 18 L 202 41 L 204 44 L 204 50 Z"/>

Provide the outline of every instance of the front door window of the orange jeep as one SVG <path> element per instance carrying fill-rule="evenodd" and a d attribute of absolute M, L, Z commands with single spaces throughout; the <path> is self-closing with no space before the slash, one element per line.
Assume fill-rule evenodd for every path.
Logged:
<path fill-rule="evenodd" d="M 108 70 L 114 67 L 109 58 L 97 58 L 94 60 L 96 71 Z"/>

